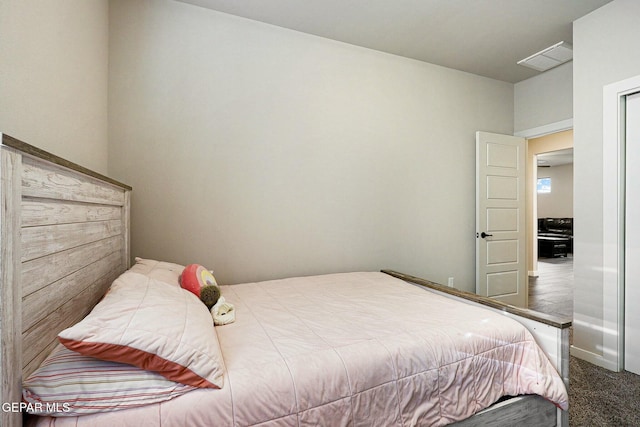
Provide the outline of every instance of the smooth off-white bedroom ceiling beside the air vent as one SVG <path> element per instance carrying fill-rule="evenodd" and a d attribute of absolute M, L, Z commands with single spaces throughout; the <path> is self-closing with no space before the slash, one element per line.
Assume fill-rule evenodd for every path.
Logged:
<path fill-rule="evenodd" d="M 516 83 L 516 62 L 611 0 L 178 0 L 304 33 Z"/>

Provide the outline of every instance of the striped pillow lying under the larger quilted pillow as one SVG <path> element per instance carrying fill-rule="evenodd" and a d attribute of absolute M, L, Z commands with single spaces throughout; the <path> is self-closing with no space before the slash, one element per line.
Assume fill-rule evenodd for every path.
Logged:
<path fill-rule="evenodd" d="M 118 411 L 197 389 L 117 362 L 83 356 L 59 344 L 23 383 L 27 412 L 54 417 Z"/>

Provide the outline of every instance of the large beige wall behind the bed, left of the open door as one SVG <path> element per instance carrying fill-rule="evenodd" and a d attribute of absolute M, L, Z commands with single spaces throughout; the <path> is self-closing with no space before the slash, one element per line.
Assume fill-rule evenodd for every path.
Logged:
<path fill-rule="evenodd" d="M 133 254 L 474 289 L 475 131 L 513 132 L 513 85 L 165 0 L 112 1 L 110 30 Z"/>

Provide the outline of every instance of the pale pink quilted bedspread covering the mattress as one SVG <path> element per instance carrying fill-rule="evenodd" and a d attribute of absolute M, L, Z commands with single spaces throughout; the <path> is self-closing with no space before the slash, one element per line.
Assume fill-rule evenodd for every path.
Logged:
<path fill-rule="evenodd" d="M 566 409 L 565 386 L 516 321 L 383 273 L 223 286 L 222 390 L 56 426 L 431 426 L 503 395 Z"/>

